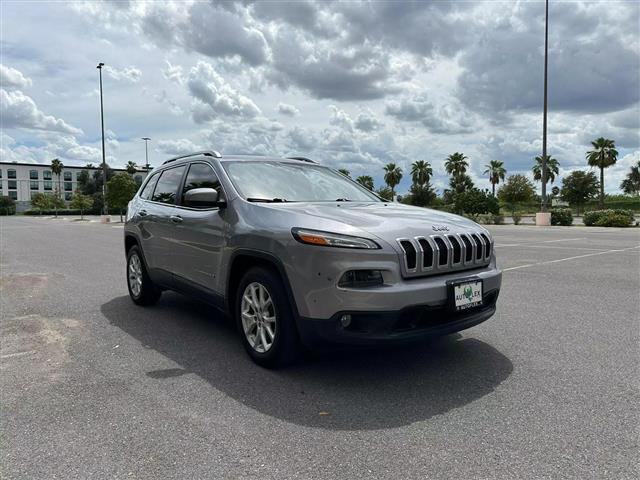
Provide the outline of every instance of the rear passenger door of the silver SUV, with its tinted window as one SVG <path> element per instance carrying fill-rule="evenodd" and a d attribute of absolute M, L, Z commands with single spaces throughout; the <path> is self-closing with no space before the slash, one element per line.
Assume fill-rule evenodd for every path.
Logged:
<path fill-rule="evenodd" d="M 149 258 L 149 266 L 164 272 L 171 272 L 172 255 L 174 254 L 175 204 L 178 198 L 185 165 L 168 168 L 160 172 L 151 200 L 146 204 L 147 217 L 147 249 L 145 258 Z"/>

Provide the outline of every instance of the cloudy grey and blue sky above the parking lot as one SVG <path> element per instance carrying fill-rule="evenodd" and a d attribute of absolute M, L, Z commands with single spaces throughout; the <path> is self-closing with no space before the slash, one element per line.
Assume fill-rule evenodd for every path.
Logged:
<path fill-rule="evenodd" d="M 549 8 L 549 152 L 585 168 L 616 141 L 617 190 L 640 160 L 640 3 Z M 530 169 L 541 152 L 541 2 L 0 4 L 3 161 L 122 166 L 214 148 L 305 155 L 353 176 L 465 153 Z"/>

